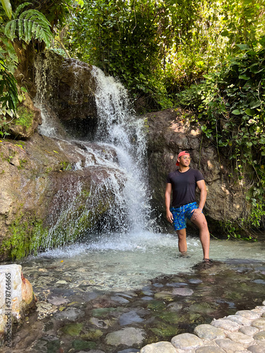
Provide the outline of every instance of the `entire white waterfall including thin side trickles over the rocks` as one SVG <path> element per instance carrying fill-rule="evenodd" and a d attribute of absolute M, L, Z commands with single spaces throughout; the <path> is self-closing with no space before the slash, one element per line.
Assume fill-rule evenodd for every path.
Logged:
<path fill-rule="evenodd" d="M 75 71 L 78 71 L 79 63 L 80 61 L 71 61 Z M 151 217 L 148 193 L 144 121 L 139 119 L 131 109 L 127 91 L 119 80 L 105 76 L 99 68 L 93 67 L 91 74 L 96 83 L 95 104 L 98 114 L 93 140 L 91 136 L 82 139 L 67 137 L 61 134 L 61 127 L 58 128 L 60 124 L 49 114 L 49 108 L 47 108 L 49 104 L 45 102 L 44 93 L 47 92 L 47 85 L 51 85 L 47 83 L 45 76 L 45 68 L 48 66 L 47 62 L 36 66 L 38 92 L 35 105 L 42 110 L 40 133 L 56 138 L 59 144 L 60 140 L 71 144 L 71 149 L 76 152 L 76 155 L 82 155 L 85 158 L 85 163 L 81 163 L 77 158 L 76 165 L 73 167 L 76 172 L 83 168 L 102 166 L 107 167 L 108 177 L 101 184 L 91 184 L 89 197 L 84 201 L 83 211 L 78 215 L 73 215 L 72 210 L 76 200 L 81 198 L 81 185 L 77 183 L 69 187 L 69 190 L 59 191 L 55 200 L 60 198 L 64 203 L 59 210 L 54 206 L 54 210 L 49 215 L 52 227 L 42 241 L 42 249 L 57 246 L 54 242 L 55 238 L 59 239 L 58 244 L 69 244 L 78 238 L 86 237 L 86 234 L 91 232 L 139 234 L 146 230 L 153 230 L 154 221 Z M 72 92 L 71 99 L 74 99 L 75 95 L 76 92 Z M 83 225 L 83 219 L 88 213 L 90 217 L 91 215 L 97 217 L 94 214 L 93 205 L 99 202 L 102 188 L 111 190 L 115 206 L 111 205 L 107 210 L 98 229 L 95 227 L 87 229 L 87 225 Z M 76 229 L 79 235 L 73 237 Z"/>

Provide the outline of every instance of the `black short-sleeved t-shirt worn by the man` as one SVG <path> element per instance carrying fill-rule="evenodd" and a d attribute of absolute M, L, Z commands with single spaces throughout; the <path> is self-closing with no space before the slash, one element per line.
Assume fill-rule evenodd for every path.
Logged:
<path fill-rule="evenodd" d="M 179 169 L 167 176 L 167 183 L 172 184 L 172 207 L 180 207 L 195 202 L 196 181 L 204 180 L 199 170 L 189 168 L 181 173 Z"/>

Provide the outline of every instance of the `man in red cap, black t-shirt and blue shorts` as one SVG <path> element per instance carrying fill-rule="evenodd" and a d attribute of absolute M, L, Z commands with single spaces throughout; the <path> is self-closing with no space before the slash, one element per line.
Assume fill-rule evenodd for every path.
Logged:
<path fill-rule="evenodd" d="M 186 218 L 189 218 L 189 220 L 199 227 L 204 262 L 211 263 L 209 259 L 210 234 L 206 218 L 202 212 L 207 196 L 206 185 L 201 172 L 189 167 L 190 161 L 189 152 L 180 152 L 176 163 L 179 169 L 167 176 L 167 186 L 165 189 L 166 217 L 177 231 L 179 252 L 182 256 L 187 256 Z M 197 186 L 200 191 L 199 205 L 195 202 L 195 190 Z M 171 193 L 172 205 L 170 208 Z"/>

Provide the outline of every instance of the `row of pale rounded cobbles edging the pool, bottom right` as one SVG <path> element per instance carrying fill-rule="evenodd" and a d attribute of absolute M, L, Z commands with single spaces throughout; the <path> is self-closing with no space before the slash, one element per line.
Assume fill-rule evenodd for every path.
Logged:
<path fill-rule="evenodd" d="M 194 334 L 181 333 L 171 342 L 151 343 L 139 353 L 264 353 L 265 301 L 262 305 L 198 325 Z"/>

